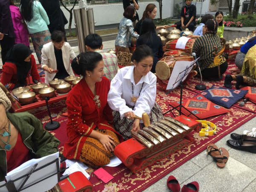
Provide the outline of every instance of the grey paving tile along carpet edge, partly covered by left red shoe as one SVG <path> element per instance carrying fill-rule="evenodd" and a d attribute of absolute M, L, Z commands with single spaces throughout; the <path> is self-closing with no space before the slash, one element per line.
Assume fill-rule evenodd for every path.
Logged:
<path fill-rule="evenodd" d="M 148 187 L 147 189 L 145 189 L 143 192 L 169 192 L 170 190 L 167 188 L 166 181 L 170 175 L 175 176 L 179 183 L 182 183 L 200 170 L 200 167 L 198 167 L 191 161 L 188 161 L 174 171 L 170 172 L 168 175 L 166 175 L 150 187 Z"/>

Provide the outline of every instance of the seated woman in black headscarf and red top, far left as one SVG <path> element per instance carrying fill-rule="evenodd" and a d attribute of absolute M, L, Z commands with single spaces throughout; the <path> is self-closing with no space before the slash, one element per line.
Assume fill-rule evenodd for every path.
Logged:
<path fill-rule="evenodd" d="M 1 83 L 8 89 L 24 87 L 41 81 L 35 64 L 34 55 L 24 44 L 14 45 L 6 55 Z"/>

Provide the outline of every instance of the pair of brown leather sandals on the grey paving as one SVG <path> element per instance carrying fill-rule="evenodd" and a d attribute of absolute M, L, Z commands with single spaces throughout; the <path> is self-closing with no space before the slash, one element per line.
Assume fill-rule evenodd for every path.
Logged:
<path fill-rule="evenodd" d="M 218 168 L 223 169 L 225 167 L 229 157 L 229 153 L 225 148 L 218 148 L 215 144 L 211 143 L 207 146 L 207 154 L 216 161 Z"/>

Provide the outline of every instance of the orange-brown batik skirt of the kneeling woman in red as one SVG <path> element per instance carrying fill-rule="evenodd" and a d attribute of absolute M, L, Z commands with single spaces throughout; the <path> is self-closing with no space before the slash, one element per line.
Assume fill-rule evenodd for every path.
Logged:
<path fill-rule="evenodd" d="M 97 127 L 94 129 L 94 131 L 98 131 L 101 134 L 110 135 L 113 137 L 113 141 L 116 145 L 120 143 L 118 137 L 113 131 L 107 129 L 98 129 Z M 110 157 L 113 155 L 113 151 L 106 151 L 99 140 L 92 137 L 87 137 L 79 160 L 90 166 L 104 166 L 110 162 Z"/>

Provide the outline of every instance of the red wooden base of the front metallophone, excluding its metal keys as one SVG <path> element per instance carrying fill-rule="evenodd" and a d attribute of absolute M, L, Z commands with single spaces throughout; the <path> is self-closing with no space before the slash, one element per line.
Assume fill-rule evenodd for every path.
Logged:
<path fill-rule="evenodd" d="M 194 129 L 201 130 L 202 125 L 194 119 L 184 115 L 180 115 L 175 119 L 188 125 L 191 129 L 184 131 L 184 134 L 177 134 L 172 137 L 172 139 L 154 145 L 151 148 L 148 148 L 136 139 L 131 138 L 117 145 L 114 149 L 114 154 L 133 173 L 137 173 L 176 151 L 187 147 L 194 142 L 194 139 L 189 137 L 188 134 Z"/>

